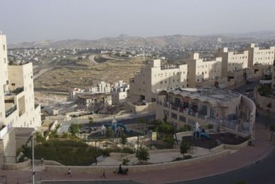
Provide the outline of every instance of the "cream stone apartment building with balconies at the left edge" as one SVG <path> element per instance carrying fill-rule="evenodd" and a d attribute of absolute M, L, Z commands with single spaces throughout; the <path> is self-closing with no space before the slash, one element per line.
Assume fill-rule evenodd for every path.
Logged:
<path fill-rule="evenodd" d="M 0 163 L 16 162 L 15 130 L 39 127 L 41 110 L 34 103 L 32 63 L 8 65 L 3 34 L 0 34 L 0 45 Z"/>

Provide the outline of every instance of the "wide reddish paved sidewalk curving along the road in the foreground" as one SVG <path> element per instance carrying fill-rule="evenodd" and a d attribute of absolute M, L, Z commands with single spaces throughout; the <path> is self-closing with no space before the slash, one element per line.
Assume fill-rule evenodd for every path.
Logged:
<path fill-rule="evenodd" d="M 98 173 L 72 173 L 72 177 L 68 177 L 65 173 L 57 172 L 37 172 L 36 181 L 41 180 L 133 180 L 140 183 L 171 183 L 177 181 L 188 181 L 197 178 L 204 178 L 237 170 L 246 165 L 255 163 L 259 159 L 263 159 L 268 153 L 274 149 L 274 142 L 270 141 L 270 131 L 265 127 L 256 123 L 256 145 L 255 147 L 245 147 L 238 152 L 234 152 L 229 156 L 214 161 L 204 161 L 199 165 L 188 165 L 171 167 L 169 170 L 157 170 L 151 172 L 135 172 L 127 176 L 113 174 L 106 170 L 107 178 L 100 178 Z M 39 168 L 41 170 L 41 168 Z M 8 183 L 28 183 L 32 177 L 30 171 L 6 171 L 0 170 L 0 183 L 4 178 L 8 178 Z"/>

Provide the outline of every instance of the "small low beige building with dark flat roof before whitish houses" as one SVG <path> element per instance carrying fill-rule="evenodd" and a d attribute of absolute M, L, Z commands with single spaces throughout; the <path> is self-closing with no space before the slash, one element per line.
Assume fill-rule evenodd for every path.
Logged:
<path fill-rule="evenodd" d="M 111 105 L 111 94 L 94 93 L 78 95 L 78 106 L 81 110 L 98 111 Z"/>

